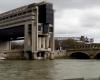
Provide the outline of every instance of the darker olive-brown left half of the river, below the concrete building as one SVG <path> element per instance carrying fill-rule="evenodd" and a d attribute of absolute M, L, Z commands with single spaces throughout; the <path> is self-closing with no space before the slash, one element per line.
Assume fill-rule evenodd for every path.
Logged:
<path fill-rule="evenodd" d="M 52 61 L 0 61 L 0 80 L 54 80 L 53 67 Z"/>

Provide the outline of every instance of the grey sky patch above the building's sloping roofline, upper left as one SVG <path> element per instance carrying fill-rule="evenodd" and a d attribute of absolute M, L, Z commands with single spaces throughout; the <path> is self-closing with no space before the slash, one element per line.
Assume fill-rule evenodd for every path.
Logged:
<path fill-rule="evenodd" d="M 37 0 L 38 1 L 38 0 Z M 0 0 L 0 11 L 8 11 L 20 6 L 37 2 L 36 0 Z"/>

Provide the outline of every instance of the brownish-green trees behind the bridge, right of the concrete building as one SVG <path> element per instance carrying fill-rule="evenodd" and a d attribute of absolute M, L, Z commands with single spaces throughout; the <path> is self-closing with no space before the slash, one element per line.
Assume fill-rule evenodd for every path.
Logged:
<path fill-rule="evenodd" d="M 93 42 L 93 41 L 92 41 Z M 55 40 L 55 49 L 79 49 L 87 48 L 90 46 L 89 39 L 85 36 L 81 36 L 80 40 L 66 39 L 66 40 Z"/>

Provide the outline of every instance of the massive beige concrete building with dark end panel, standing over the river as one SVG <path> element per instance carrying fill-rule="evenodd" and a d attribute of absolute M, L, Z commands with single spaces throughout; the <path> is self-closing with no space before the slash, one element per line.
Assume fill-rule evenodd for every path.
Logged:
<path fill-rule="evenodd" d="M 18 39 L 24 40 L 27 59 L 53 57 L 54 10 L 51 3 L 33 3 L 0 14 L 0 51 L 11 51 L 11 41 Z"/>

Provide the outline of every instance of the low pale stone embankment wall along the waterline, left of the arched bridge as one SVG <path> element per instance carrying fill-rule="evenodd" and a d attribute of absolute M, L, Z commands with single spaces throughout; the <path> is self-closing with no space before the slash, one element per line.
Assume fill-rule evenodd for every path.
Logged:
<path fill-rule="evenodd" d="M 46 59 L 50 58 L 50 54 L 46 55 Z M 62 50 L 56 50 L 53 54 L 54 59 L 64 59 L 67 58 L 66 56 L 66 51 Z M 23 51 L 18 51 L 18 50 L 14 50 L 14 51 L 9 51 L 9 52 L 0 52 L 0 59 L 9 59 L 9 60 L 14 60 L 14 59 L 25 59 L 25 54 Z"/>

